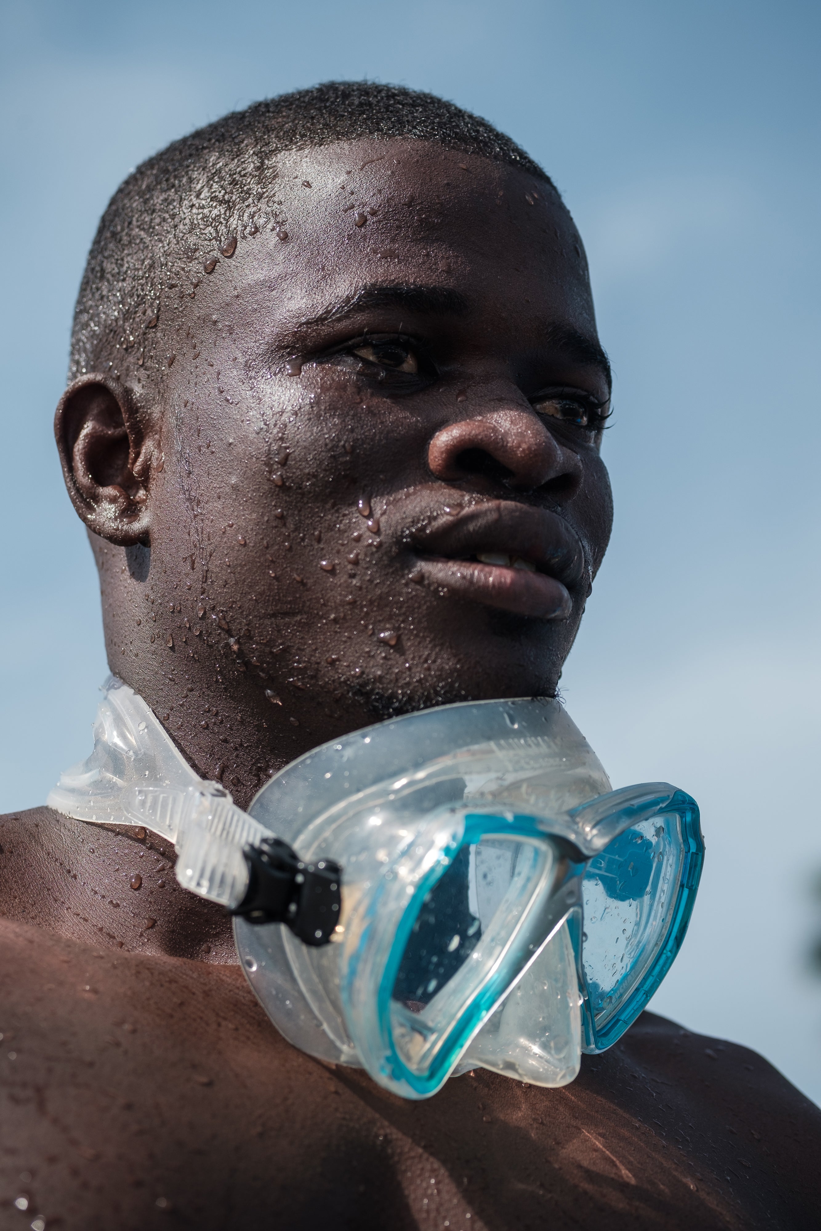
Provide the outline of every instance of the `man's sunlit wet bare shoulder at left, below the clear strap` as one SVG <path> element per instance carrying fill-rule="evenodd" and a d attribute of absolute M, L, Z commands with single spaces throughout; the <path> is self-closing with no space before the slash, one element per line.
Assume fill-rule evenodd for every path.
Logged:
<path fill-rule="evenodd" d="M 71 1231 L 144 1231 L 172 1208 L 214 1231 L 347 1225 L 340 1210 L 379 1225 L 374 1117 L 277 1034 L 239 968 L 0 920 L 0 1208 L 23 1197 Z"/>

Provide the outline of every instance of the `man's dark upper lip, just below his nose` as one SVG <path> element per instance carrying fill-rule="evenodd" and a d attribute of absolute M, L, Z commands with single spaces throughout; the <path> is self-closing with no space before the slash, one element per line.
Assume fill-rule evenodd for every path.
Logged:
<path fill-rule="evenodd" d="M 412 538 L 420 555 L 469 560 L 499 551 L 529 560 L 539 572 L 575 588 L 587 575 L 577 535 L 558 513 L 508 500 L 489 500 L 455 516 L 444 515 Z"/>

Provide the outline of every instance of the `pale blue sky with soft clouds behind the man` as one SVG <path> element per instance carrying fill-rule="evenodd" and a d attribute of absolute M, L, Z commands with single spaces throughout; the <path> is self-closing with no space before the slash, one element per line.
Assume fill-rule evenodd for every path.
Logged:
<path fill-rule="evenodd" d="M 617 519 L 564 694 L 614 785 L 682 785 L 708 842 L 652 1007 L 821 1101 L 821 9 L 4 0 L 0 18 L 0 810 L 89 751 L 106 675 L 50 419 L 107 198 L 255 98 L 432 90 L 523 144 L 587 245 Z"/>

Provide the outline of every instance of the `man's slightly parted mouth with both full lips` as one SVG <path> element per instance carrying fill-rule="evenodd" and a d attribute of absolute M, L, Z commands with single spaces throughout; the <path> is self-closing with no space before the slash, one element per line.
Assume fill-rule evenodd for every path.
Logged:
<path fill-rule="evenodd" d="M 447 595 L 531 616 L 567 619 L 585 554 L 564 518 L 512 501 L 487 501 L 416 535 L 415 580 Z"/>

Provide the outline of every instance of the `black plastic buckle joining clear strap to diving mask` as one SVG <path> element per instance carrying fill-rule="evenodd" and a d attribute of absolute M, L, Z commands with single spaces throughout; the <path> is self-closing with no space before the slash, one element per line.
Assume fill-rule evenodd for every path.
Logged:
<path fill-rule="evenodd" d="M 303 863 L 281 838 L 263 838 L 244 854 L 249 888 L 231 913 L 249 923 L 287 923 L 305 944 L 327 944 L 340 921 L 338 863 Z"/>

